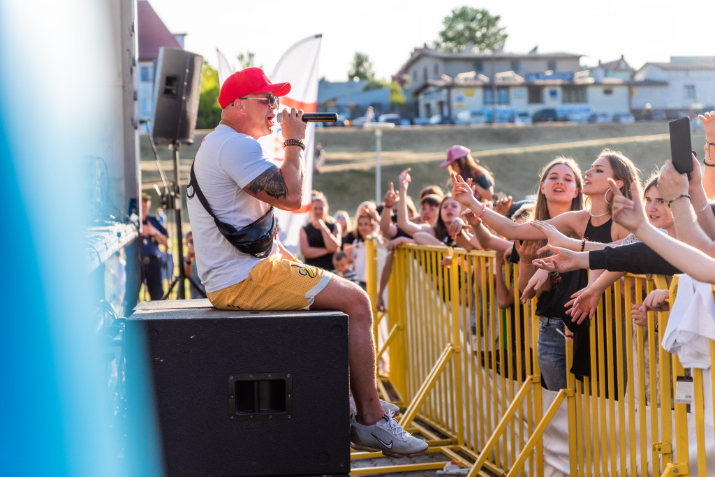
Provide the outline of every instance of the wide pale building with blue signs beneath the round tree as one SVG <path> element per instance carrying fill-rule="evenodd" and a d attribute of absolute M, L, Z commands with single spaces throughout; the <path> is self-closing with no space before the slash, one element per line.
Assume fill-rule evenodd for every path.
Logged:
<path fill-rule="evenodd" d="M 418 116 L 456 119 L 479 112 L 497 122 L 545 109 L 558 119 L 586 121 L 591 114 L 628 112 L 628 82 L 582 71 L 580 55 L 443 53 L 415 50 L 402 69 Z"/>

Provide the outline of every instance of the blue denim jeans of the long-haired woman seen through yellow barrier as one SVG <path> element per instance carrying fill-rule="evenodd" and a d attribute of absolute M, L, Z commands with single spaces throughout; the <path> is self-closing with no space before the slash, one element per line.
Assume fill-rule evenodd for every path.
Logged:
<path fill-rule="evenodd" d="M 552 391 L 566 388 L 566 341 L 563 329 L 561 318 L 538 318 L 538 365 L 546 389 Z"/>

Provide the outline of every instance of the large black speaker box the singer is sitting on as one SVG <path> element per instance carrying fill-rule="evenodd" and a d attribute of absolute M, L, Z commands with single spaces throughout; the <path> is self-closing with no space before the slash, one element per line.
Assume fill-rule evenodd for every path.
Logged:
<path fill-rule="evenodd" d="M 125 355 L 129 461 L 155 421 L 167 476 L 350 472 L 345 314 L 144 302 Z"/>

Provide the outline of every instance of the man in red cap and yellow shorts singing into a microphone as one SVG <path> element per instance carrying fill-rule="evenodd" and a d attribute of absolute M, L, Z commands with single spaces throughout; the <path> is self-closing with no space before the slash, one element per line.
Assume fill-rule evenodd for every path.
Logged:
<path fill-rule="evenodd" d="M 271 133 L 278 97 L 288 92 L 289 83 L 273 84 L 259 68 L 236 72 L 221 87 L 221 122 L 199 147 L 187 191 L 199 277 L 212 305 L 223 310 L 312 308 L 345 313 L 350 326 L 350 389 L 358 410 L 350 429 L 352 447 L 393 457 L 417 456 L 427 451 L 427 443 L 405 432 L 378 398 L 368 295 L 353 282 L 298 262 L 277 237 L 270 250 L 256 253 L 241 252 L 249 247 L 235 240 L 251 235 L 242 234 L 247 225 L 257 232 L 255 224 L 263 223 L 271 206 L 301 206 L 306 126 L 302 110 L 283 112 L 285 159 L 280 167 L 257 142 Z M 239 233 L 230 235 L 229 242 L 226 227 L 221 232 L 217 222 L 226 222 Z"/>

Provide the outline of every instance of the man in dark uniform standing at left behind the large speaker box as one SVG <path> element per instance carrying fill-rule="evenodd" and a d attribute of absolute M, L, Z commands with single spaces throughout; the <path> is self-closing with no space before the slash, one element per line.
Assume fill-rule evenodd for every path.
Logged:
<path fill-rule="evenodd" d="M 161 300 L 164 296 L 162 283 L 162 252 L 159 245 L 167 245 L 167 230 L 156 215 L 149 214 L 152 197 L 142 193 L 142 272 L 144 285 L 152 300 Z"/>

